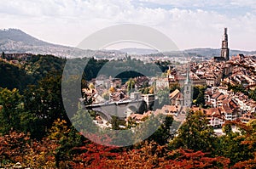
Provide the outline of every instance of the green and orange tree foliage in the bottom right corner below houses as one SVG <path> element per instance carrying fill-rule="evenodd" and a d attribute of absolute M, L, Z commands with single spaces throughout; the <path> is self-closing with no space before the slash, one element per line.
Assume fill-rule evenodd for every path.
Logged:
<path fill-rule="evenodd" d="M 256 163 L 256 121 L 247 125 L 240 121 L 227 121 L 224 124 L 225 134 L 219 138 L 218 146 L 213 155 L 230 158 L 230 164 L 254 161 Z M 236 126 L 240 132 L 233 132 L 231 126 Z M 246 162 L 245 162 L 246 163 Z M 238 166 L 238 165 L 237 165 Z"/>

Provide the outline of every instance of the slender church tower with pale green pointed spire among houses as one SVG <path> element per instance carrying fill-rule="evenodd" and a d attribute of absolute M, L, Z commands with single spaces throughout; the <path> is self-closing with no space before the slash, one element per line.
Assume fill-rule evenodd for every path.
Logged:
<path fill-rule="evenodd" d="M 184 82 L 184 106 L 190 107 L 192 101 L 192 84 L 189 79 L 189 68 L 187 70 L 187 78 Z"/>

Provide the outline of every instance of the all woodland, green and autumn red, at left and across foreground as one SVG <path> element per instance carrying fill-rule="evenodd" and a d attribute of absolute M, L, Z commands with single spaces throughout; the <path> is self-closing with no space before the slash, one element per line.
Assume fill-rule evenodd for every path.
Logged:
<path fill-rule="evenodd" d="M 84 68 L 84 80 L 87 81 L 95 78 L 102 66 L 109 62 L 96 59 L 84 61 L 88 61 Z M 35 55 L 24 65 L 0 62 L 0 166 L 256 168 L 256 121 L 250 121 L 247 125 L 240 121 L 227 122 L 223 127 L 225 134 L 217 136 L 212 127 L 207 125 L 207 119 L 201 111 L 189 112 L 187 121 L 172 134 L 170 127 L 175 121 L 172 116 L 167 116 L 157 131 L 139 144 L 116 147 L 90 142 L 80 132 L 87 132 L 98 143 L 109 145 L 116 143 L 118 138 L 109 137 L 103 132 L 97 135 L 93 129 L 78 132 L 72 126 L 61 98 L 62 70 L 66 62 L 67 59 L 50 55 Z M 79 62 L 83 62 L 83 59 L 79 59 Z M 131 64 L 135 65 L 132 60 L 119 62 L 125 65 L 125 70 L 129 70 Z M 139 65 L 139 61 L 136 63 Z M 114 65 L 108 64 L 110 67 Z M 69 66 L 75 69 L 75 65 Z M 160 69 L 166 70 L 166 66 L 163 66 L 165 68 Z M 154 73 L 154 69 L 149 67 L 145 65 L 142 69 Z M 118 67 L 115 69 L 119 70 Z M 200 99 L 203 91 L 204 88 L 197 87 L 193 98 Z M 74 106 L 79 108 L 79 104 Z M 84 117 L 90 118 L 89 113 L 82 108 L 74 117 L 78 123 L 93 125 L 90 121 L 79 121 Z M 158 118 L 155 117 L 156 120 Z M 156 123 L 145 123 L 141 130 L 147 131 L 148 127 L 154 127 Z M 134 125 L 137 124 L 131 120 L 128 128 Z M 232 132 L 232 126 L 238 127 L 240 132 Z"/>

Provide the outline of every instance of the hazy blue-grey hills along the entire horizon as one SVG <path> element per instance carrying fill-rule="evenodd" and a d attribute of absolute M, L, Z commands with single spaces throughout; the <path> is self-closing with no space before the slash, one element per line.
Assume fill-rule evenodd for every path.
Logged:
<path fill-rule="evenodd" d="M 44 42 L 38 38 L 32 37 L 26 34 L 24 31 L 19 29 L 4 29 L 0 30 L 0 52 L 6 53 L 30 53 L 30 54 L 53 54 L 59 57 L 88 57 L 95 56 L 91 55 L 96 53 L 99 57 L 118 57 L 126 54 L 158 54 L 159 51 L 150 48 L 122 48 L 119 50 L 101 50 L 92 51 L 84 50 L 80 48 L 67 47 L 49 42 Z M 220 55 L 219 48 L 191 48 L 183 51 L 175 52 L 169 51 L 164 52 L 170 56 L 180 56 L 180 54 L 188 54 L 190 56 L 204 56 L 213 57 Z M 256 54 L 256 51 L 241 51 L 241 50 L 230 50 L 230 56 L 236 54 Z"/>

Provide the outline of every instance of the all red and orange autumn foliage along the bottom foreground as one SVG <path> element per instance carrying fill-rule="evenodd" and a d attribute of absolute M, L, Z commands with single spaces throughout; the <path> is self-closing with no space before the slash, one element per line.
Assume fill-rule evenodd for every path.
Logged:
<path fill-rule="evenodd" d="M 240 123 L 239 123 L 240 124 Z M 245 125 L 240 124 L 241 127 Z M 244 127 L 247 132 L 250 128 Z M 247 137 L 241 144 L 254 145 L 253 135 L 243 135 Z M 97 136 L 91 134 L 97 143 L 110 144 L 111 138 L 107 135 Z M 241 136 L 239 136 L 241 137 Z M 143 142 L 135 148 L 126 150 L 125 148 L 104 146 L 86 141 L 84 146 L 77 147 L 77 154 L 72 156 L 72 161 L 68 161 L 71 168 L 234 168 L 251 169 L 256 168 L 256 158 L 247 161 L 237 162 L 230 166 L 230 159 L 222 156 L 211 157 L 210 154 L 193 151 L 189 149 L 168 150 L 167 146 L 160 146 L 154 142 Z M 10 132 L 8 135 L 0 137 L 0 160 L 10 161 L 11 164 L 20 162 L 26 167 L 55 167 L 55 149 L 58 147 L 54 141 L 44 138 L 35 141 L 28 135 L 18 132 Z"/>

